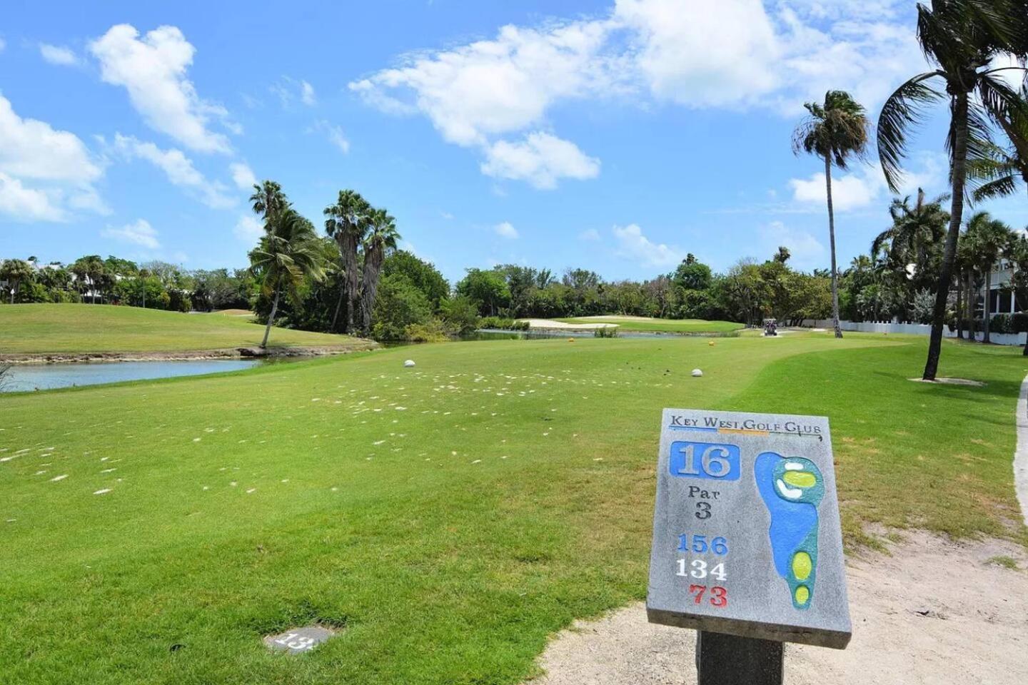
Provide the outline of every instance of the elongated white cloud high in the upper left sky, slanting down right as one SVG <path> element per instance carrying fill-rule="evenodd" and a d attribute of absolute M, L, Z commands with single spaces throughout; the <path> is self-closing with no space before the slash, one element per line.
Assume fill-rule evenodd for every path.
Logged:
<path fill-rule="evenodd" d="M 231 149 L 223 134 L 209 128 L 212 118 L 226 120 L 228 112 L 196 93 L 186 75 L 196 50 L 177 27 L 162 26 L 140 39 L 135 27 L 118 24 L 90 42 L 89 51 L 100 61 L 101 78 L 124 86 L 152 128 L 198 152 Z"/>

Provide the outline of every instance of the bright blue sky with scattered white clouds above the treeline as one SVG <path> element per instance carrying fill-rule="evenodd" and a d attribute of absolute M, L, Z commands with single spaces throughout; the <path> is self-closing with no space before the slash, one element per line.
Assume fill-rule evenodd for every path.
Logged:
<path fill-rule="evenodd" d="M 0 17 L 0 256 L 244 266 L 254 179 L 322 225 L 340 188 L 469 266 L 645 278 L 785 244 L 827 267 L 802 103 L 877 117 L 924 71 L 906 0 L 38 3 Z M 945 190 L 942 120 L 908 190 Z M 887 223 L 874 166 L 836 176 L 840 261 Z M 1015 226 L 1023 196 L 989 205 Z"/>

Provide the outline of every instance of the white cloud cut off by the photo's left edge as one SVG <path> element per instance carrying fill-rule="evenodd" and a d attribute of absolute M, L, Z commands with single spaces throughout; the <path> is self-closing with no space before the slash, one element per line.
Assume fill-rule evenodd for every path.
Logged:
<path fill-rule="evenodd" d="M 104 174 L 82 141 L 45 121 L 23 119 L 0 96 L 0 211 L 20 221 L 64 221 L 67 210 L 106 213 L 93 184 Z"/>

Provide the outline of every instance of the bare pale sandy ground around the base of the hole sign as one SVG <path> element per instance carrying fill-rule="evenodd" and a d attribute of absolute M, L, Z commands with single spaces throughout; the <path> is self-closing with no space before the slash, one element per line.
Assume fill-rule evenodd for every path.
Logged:
<path fill-rule="evenodd" d="M 1021 570 L 989 560 L 1009 557 Z M 847 565 L 853 639 L 785 648 L 791 685 L 1028 683 L 1028 555 L 996 540 L 906 534 Z M 695 683 L 693 631 L 647 623 L 642 604 L 561 633 L 531 685 Z"/>

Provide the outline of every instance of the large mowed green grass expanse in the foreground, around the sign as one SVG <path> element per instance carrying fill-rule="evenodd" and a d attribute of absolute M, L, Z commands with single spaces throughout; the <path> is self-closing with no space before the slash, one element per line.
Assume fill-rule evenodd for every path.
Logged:
<path fill-rule="evenodd" d="M 907 380 L 923 339 L 707 342 L 0 396 L 0 682 L 518 683 L 554 631 L 645 596 L 668 406 L 828 415 L 851 548 L 870 523 L 1028 543 L 1020 350 L 945 345 L 945 375 L 988 382 L 958 387 Z M 313 622 L 341 633 L 261 644 Z"/>

